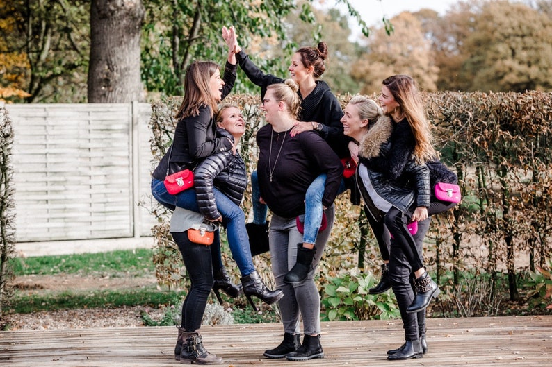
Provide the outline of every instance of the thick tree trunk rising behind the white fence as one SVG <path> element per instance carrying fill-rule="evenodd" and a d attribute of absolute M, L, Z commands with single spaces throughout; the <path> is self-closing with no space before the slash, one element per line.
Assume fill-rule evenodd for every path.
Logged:
<path fill-rule="evenodd" d="M 143 101 L 142 0 L 92 0 L 88 103 Z"/>

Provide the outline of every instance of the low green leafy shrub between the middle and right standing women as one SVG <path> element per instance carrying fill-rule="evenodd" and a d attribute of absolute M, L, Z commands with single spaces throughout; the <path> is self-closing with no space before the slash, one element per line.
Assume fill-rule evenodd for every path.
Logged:
<path fill-rule="evenodd" d="M 384 320 L 397 318 L 399 310 L 395 294 L 368 294 L 368 289 L 374 287 L 375 278 L 372 273 L 346 273 L 336 278 L 330 278 L 325 284 L 322 296 L 321 320 Z"/>

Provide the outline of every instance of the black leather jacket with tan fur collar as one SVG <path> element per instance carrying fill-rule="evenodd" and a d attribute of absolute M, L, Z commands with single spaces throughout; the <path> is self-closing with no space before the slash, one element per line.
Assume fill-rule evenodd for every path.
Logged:
<path fill-rule="evenodd" d="M 408 121 L 393 123 L 383 116 L 371 126 L 359 147 L 359 166 L 366 167 L 375 191 L 403 212 L 414 204 L 417 207 L 430 205 L 429 169 L 425 164 L 416 164 L 412 155 L 413 142 Z M 364 202 L 371 203 L 359 168 L 355 175 L 357 186 Z M 366 206 L 372 212 L 373 207 Z M 381 213 L 372 214 L 375 219 L 381 216 Z"/>

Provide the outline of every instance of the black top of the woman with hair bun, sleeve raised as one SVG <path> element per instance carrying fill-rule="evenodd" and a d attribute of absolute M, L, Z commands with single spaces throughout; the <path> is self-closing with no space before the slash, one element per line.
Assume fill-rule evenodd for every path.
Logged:
<path fill-rule="evenodd" d="M 272 74 L 264 74 L 257 65 L 250 60 L 245 52 L 236 53 L 236 58 L 241 69 L 247 75 L 252 83 L 261 87 L 261 100 L 266 93 L 266 87 L 275 83 L 284 83 L 284 79 L 273 76 Z M 330 144 L 334 152 L 340 158 L 350 155 L 348 143 L 350 137 L 343 135 L 343 110 L 337 101 L 336 96 L 330 90 L 330 87 L 322 80 L 316 80 L 316 87 L 305 99 L 298 92 L 301 99 L 301 114 L 300 121 L 314 121 L 322 123 L 322 131 L 318 134 Z"/>

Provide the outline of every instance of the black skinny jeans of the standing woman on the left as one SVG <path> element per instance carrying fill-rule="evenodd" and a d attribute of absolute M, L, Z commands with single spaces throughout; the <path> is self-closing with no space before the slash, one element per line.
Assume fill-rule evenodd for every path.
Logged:
<path fill-rule="evenodd" d="M 171 232 L 177 243 L 184 266 L 190 276 L 190 290 L 182 304 L 181 327 L 186 332 L 195 332 L 201 327 L 205 306 L 209 293 L 213 289 L 213 255 L 218 256 L 216 248 L 219 244 L 218 230 L 211 246 L 194 244 L 188 239 L 188 232 Z"/>

